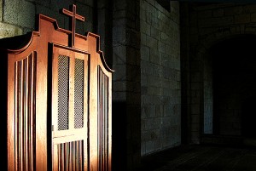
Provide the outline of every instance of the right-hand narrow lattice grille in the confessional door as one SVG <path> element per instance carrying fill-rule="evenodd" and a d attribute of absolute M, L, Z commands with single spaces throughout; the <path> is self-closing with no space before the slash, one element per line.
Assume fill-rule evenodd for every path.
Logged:
<path fill-rule="evenodd" d="M 75 59 L 74 128 L 84 127 L 84 60 Z"/>

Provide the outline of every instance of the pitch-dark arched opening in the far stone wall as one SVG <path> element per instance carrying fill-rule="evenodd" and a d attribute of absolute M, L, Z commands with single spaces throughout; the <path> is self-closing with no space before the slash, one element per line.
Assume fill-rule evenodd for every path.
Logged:
<path fill-rule="evenodd" d="M 213 134 L 256 138 L 256 37 L 232 37 L 209 49 Z"/>

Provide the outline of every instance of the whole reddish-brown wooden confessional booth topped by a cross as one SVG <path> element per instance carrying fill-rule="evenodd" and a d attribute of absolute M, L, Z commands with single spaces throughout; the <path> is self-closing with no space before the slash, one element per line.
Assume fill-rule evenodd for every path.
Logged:
<path fill-rule="evenodd" d="M 111 171 L 112 70 L 99 36 L 38 15 L 38 31 L 1 43 L 1 168 Z M 3 160 L 6 158 L 6 160 Z M 1 169 L 1 170 L 2 170 Z"/>

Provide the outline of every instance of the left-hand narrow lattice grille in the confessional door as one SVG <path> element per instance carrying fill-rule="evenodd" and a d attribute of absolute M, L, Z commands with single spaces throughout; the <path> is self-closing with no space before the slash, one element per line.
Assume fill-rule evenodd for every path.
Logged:
<path fill-rule="evenodd" d="M 58 130 L 68 129 L 69 57 L 58 57 Z"/>

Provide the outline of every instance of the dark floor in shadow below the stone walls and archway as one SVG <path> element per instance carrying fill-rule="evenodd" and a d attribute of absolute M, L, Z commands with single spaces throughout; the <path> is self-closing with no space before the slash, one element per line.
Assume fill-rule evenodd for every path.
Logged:
<path fill-rule="evenodd" d="M 187 145 L 143 157 L 142 164 L 142 171 L 256 171 L 256 148 Z"/>

